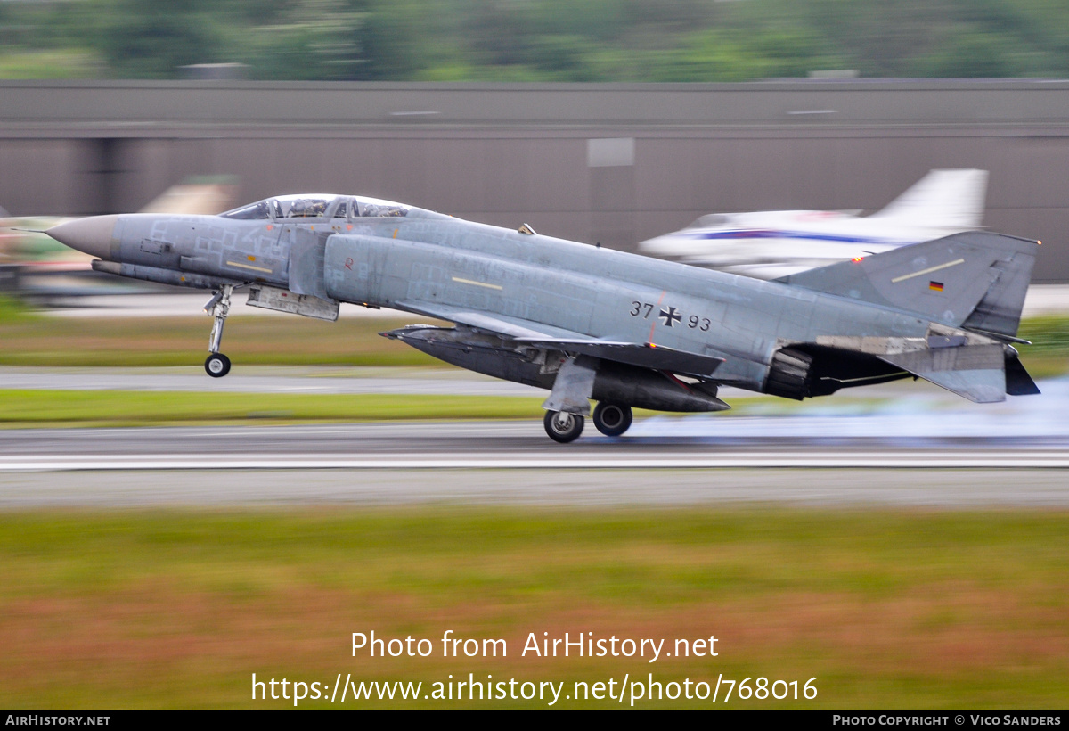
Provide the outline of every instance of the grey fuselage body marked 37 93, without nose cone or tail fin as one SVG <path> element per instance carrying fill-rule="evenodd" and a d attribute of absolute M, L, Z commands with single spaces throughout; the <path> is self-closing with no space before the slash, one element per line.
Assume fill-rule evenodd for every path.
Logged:
<path fill-rule="evenodd" d="M 352 215 L 357 200 L 342 216 L 122 215 L 92 253 L 197 275 L 196 286 L 261 283 L 414 313 L 477 311 L 561 337 L 723 357 L 716 382 L 755 391 L 785 345 L 827 335 L 921 337 L 928 326 L 841 296 L 417 208 Z M 316 276 L 321 290 L 310 291 Z"/>

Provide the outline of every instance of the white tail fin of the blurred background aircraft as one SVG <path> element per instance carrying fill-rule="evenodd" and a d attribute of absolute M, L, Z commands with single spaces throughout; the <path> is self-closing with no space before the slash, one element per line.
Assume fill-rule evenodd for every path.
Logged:
<path fill-rule="evenodd" d="M 987 187 L 987 170 L 931 170 L 869 218 L 901 226 L 979 228 Z"/>

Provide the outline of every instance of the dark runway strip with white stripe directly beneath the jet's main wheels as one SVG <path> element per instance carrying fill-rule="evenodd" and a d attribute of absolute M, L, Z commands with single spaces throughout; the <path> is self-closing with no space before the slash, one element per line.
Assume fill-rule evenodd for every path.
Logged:
<path fill-rule="evenodd" d="M 819 428 L 821 424 L 826 428 Z M 971 426 L 959 422 L 959 426 Z M 833 430 L 833 426 L 838 426 Z M 880 431 L 884 436 L 872 436 Z M 0 430 L 0 470 L 309 467 L 988 467 L 1056 463 L 1069 438 L 1006 433 L 894 433 L 894 422 L 868 416 L 654 416 L 623 437 L 588 425 L 568 445 L 530 421 L 370 422 L 298 426 L 180 426 Z M 856 430 L 856 435 L 849 433 Z M 690 432 L 690 433 L 686 433 Z M 912 461 L 911 461 L 912 460 Z M 31 467 L 36 465 L 36 467 Z M 19 467 L 16 467 L 19 466 Z M 25 467 L 22 467 L 25 466 Z M 68 466 L 68 467 L 64 467 Z M 86 467 L 82 467 L 86 466 Z M 229 466 L 229 467 L 228 467 Z M 154 469 L 145 465 L 138 469 Z"/>

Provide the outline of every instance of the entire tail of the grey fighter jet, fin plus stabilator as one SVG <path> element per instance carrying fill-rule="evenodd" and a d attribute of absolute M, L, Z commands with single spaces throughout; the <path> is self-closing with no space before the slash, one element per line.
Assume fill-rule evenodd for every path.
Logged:
<path fill-rule="evenodd" d="M 1009 342 L 1017 338 L 1037 242 L 956 233 L 865 259 L 801 272 L 783 284 L 915 314 L 926 338 L 828 336 L 819 345 L 867 352 L 970 400 L 1039 393 Z"/>

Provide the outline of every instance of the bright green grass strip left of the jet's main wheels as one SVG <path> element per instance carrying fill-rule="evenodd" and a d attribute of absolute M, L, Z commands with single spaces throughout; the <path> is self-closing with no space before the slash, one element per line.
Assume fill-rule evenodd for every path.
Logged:
<path fill-rule="evenodd" d="M 0 427 L 533 418 L 541 398 L 0 390 Z"/>

